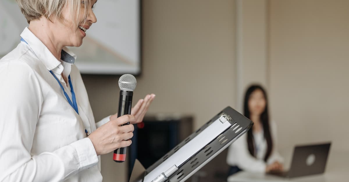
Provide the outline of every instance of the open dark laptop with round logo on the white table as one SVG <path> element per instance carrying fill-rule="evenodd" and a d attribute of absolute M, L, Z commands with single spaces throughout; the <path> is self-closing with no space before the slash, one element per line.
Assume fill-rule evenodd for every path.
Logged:
<path fill-rule="evenodd" d="M 282 177 L 299 177 L 325 172 L 331 142 L 296 146 L 289 171 L 270 172 Z"/>

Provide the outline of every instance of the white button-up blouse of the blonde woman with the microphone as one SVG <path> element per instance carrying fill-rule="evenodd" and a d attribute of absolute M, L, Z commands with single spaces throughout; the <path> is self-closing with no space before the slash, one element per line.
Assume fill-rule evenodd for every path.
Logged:
<path fill-rule="evenodd" d="M 57 60 L 28 28 L 21 37 L 0 60 L 0 181 L 102 181 L 100 158 L 85 133 L 96 124 L 76 56 L 64 48 Z M 61 76 L 70 74 L 79 114 L 49 71 L 72 100 Z"/>

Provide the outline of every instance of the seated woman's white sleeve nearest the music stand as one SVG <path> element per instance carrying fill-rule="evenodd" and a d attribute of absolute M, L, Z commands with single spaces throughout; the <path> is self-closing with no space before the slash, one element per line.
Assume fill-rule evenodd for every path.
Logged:
<path fill-rule="evenodd" d="M 247 147 L 247 134 L 242 135 L 230 145 L 227 156 L 227 163 L 230 166 L 238 166 L 248 172 L 264 173 L 266 164 L 262 160 L 254 158 Z"/>

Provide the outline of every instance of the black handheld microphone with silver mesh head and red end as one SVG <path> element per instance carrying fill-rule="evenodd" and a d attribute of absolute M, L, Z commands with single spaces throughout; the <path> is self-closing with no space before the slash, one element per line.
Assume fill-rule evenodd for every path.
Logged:
<path fill-rule="evenodd" d="M 119 79 L 120 97 L 118 117 L 131 114 L 133 90 L 137 86 L 137 80 L 132 74 L 124 74 Z M 129 125 L 129 122 L 121 125 Z M 122 163 L 126 160 L 126 147 L 114 150 L 113 160 Z"/>

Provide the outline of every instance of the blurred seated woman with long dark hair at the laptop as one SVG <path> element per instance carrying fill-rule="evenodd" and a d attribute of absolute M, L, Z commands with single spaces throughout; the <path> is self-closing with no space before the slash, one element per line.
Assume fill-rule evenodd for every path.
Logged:
<path fill-rule="evenodd" d="M 277 151 L 276 124 L 269 121 L 267 94 L 261 86 L 252 85 L 247 89 L 244 115 L 254 125 L 229 147 L 229 175 L 241 170 L 258 173 L 281 171 L 283 158 Z"/>

